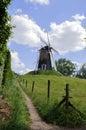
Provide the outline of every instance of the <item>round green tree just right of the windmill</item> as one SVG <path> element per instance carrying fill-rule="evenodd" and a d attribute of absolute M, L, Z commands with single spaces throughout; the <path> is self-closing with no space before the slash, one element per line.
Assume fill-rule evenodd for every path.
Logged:
<path fill-rule="evenodd" d="M 75 70 L 75 64 L 70 60 L 61 58 L 56 62 L 57 70 L 65 76 L 71 76 Z"/>

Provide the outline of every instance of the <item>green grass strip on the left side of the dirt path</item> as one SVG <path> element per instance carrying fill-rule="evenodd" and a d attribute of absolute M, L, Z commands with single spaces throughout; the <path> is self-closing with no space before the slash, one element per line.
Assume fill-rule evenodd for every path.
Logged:
<path fill-rule="evenodd" d="M 18 88 L 15 76 L 9 75 L 3 89 L 4 100 L 11 105 L 11 117 L 8 121 L 0 121 L 0 130 L 28 130 L 30 116 L 25 100 Z"/>

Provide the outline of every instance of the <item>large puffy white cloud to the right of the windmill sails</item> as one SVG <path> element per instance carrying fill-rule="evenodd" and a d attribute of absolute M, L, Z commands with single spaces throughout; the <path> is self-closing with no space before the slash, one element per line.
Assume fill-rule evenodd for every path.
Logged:
<path fill-rule="evenodd" d="M 51 23 L 50 40 L 60 53 L 78 51 L 86 46 L 86 31 L 80 21 L 65 21 L 61 24 Z"/>

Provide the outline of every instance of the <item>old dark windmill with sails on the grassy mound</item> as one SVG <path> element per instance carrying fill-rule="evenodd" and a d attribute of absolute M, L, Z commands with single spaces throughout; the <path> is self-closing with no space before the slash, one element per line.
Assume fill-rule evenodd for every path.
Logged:
<path fill-rule="evenodd" d="M 39 50 L 39 59 L 37 61 L 36 68 L 37 68 L 37 70 L 55 70 L 55 71 L 57 71 L 54 57 L 52 54 L 52 50 L 55 51 L 56 53 L 58 53 L 58 51 L 55 50 L 53 47 L 51 47 L 48 33 L 47 33 L 47 39 L 48 39 L 48 43 L 46 41 L 44 41 L 42 38 L 40 38 L 40 40 L 42 41 L 42 43 L 45 44 L 45 46 Z"/>

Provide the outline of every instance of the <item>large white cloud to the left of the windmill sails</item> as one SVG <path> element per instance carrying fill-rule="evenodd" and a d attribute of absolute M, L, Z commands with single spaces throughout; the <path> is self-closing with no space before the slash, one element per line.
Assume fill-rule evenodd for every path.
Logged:
<path fill-rule="evenodd" d="M 21 22 L 22 21 L 22 22 Z M 28 15 L 14 15 L 12 24 L 16 27 L 13 29 L 14 38 L 18 44 L 36 47 L 40 45 L 40 35 L 44 35 L 41 28 L 31 20 Z"/>

